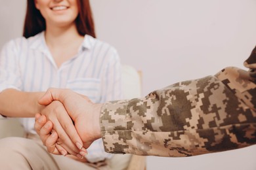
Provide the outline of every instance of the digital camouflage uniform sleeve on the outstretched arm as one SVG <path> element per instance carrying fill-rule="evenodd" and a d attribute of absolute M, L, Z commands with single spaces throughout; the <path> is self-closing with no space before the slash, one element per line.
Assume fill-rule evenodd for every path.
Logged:
<path fill-rule="evenodd" d="M 104 104 L 106 152 L 177 157 L 255 144 L 256 47 L 244 65 Z"/>

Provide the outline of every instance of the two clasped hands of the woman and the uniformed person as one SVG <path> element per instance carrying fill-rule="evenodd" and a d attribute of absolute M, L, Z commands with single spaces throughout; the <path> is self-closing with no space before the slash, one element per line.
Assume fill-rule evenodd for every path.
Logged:
<path fill-rule="evenodd" d="M 100 108 L 84 95 L 68 89 L 50 88 L 39 99 L 41 114 L 35 114 L 35 131 L 52 154 L 71 154 L 80 159 L 91 143 L 101 137 Z"/>

